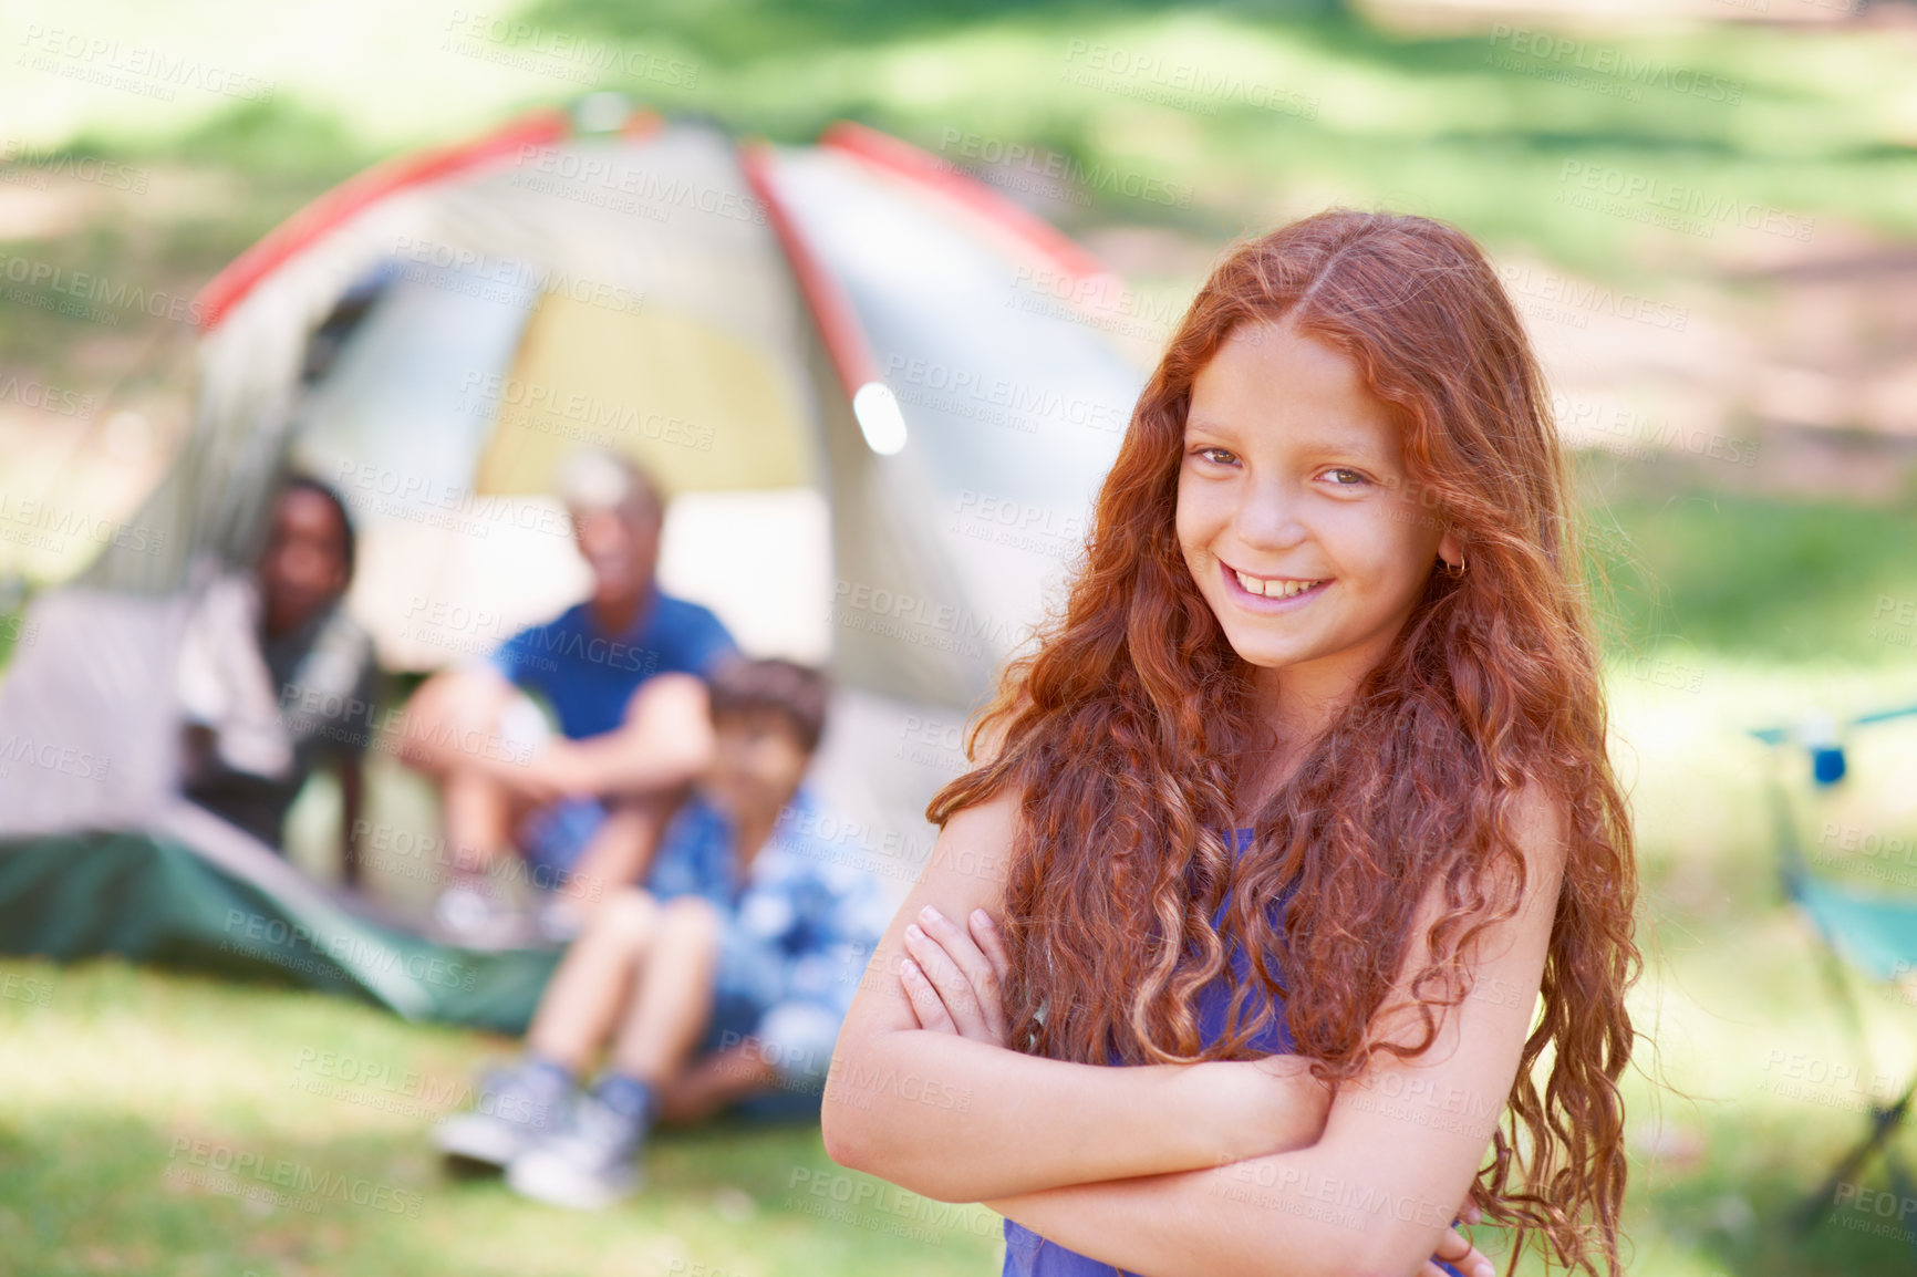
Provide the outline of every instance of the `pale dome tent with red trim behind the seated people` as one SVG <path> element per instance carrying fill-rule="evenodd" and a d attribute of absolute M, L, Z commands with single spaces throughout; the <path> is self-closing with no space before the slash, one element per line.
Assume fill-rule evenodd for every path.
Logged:
<path fill-rule="evenodd" d="M 510 1028 L 518 1003 L 395 991 L 339 963 L 426 941 L 182 809 L 151 688 L 205 562 L 251 560 L 289 464 L 353 506 L 351 606 L 389 667 L 550 615 L 581 575 L 546 491 L 581 443 L 661 481 L 667 589 L 748 648 L 828 665 L 817 780 L 853 815 L 847 861 L 903 892 L 930 847 L 924 801 L 964 765 L 958 729 L 1083 541 L 1129 420 L 1141 372 L 1085 309 L 1112 286 L 991 188 L 857 125 L 742 146 L 594 98 L 335 188 L 199 297 L 194 431 L 130 520 L 163 535 L 35 598 L 0 740 L 96 757 L 111 782 L 0 777 L 0 945 L 205 957 L 217 941 L 228 961 L 234 938 L 186 905 L 169 905 L 180 934 L 153 918 L 211 874 L 259 894 L 253 915 L 299 915 L 282 934 L 305 949 L 238 945 L 247 961 L 312 970 L 288 955 L 353 930 L 320 963 L 345 984 Z M 696 508 L 704 522 L 679 518 Z M 113 869 L 86 888 L 88 863 Z M 537 991 L 514 980 L 508 1001 Z"/>

